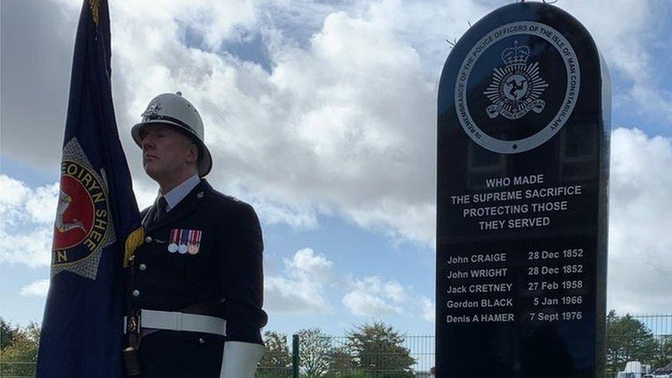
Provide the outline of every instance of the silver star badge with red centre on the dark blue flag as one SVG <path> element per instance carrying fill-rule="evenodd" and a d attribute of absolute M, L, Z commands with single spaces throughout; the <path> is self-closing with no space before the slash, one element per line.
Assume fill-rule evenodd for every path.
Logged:
<path fill-rule="evenodd" d="M 114 243 L 105 171 L 98 174 L 76 138 L 63 147 L 54 222 L 52 277 L 71 271 L 96 279 L 103 248 Z"/>

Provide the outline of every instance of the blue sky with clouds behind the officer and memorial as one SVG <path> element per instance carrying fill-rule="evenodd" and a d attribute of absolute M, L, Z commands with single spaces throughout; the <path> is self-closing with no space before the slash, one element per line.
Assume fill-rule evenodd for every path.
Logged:
<path fill-rule="evenodd" d="M 156 94 L 200 109 L 208 180 L 264 231 L 266 330 L 434 333 L 436 113 L 455 41 L 512 1 L 112 0 L 116 119 Z M 612 85 L 607 304 L 672 313 L 672 1 L 560 0 Z M 1 3 L 0 315 L 40 322 L 81 1 Z"/>

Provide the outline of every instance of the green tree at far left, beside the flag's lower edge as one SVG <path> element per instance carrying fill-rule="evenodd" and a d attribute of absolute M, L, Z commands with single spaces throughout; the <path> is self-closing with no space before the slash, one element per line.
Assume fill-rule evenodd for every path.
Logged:
<path fill-rule="evenodd" d="M 30 323 L 25 328 L 17 327 L 14 330 L 13 342 L 0 351 L 2 374 L 32 377 L 35 375 L 40 328 Z"/>

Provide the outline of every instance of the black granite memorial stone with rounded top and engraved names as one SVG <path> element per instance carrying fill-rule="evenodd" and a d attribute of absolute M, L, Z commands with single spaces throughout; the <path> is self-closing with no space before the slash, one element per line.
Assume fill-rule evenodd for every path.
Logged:
<path fill-rule="evenodd" d="M 515 3 L 439 85 L 437 377 L 603 378 L 609 76 L 590 34 Z"/>

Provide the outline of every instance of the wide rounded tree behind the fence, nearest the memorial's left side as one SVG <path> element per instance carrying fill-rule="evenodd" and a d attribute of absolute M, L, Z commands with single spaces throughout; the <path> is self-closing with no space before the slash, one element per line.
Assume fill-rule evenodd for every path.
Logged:
<path fill-rule="evenodd" d="M 403 336 L 383 323 L 364 324 L 348 333 L 353 362 L 374 377 L 413 377 L 415 359 L 403 347 Z"/>

